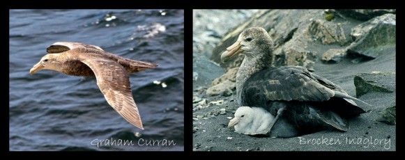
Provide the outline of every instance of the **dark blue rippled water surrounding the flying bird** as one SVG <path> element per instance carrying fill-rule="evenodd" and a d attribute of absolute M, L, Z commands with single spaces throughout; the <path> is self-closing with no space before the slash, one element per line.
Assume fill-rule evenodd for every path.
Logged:
<path fill-rule="evenodd" d="M 183 150 L 183 15 L 183 10 L 10 10 L 9 149 Z M 144 130 L 107 104 L 95 78 L 50 70 L 29 74 L 46 47 L 59 41 L 97 45 L 159 65 L 130 74 Z"/>

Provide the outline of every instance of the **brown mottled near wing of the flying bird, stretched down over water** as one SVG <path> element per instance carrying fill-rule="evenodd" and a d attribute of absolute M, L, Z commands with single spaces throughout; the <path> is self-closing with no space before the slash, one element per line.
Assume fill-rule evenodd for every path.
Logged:
<path fill-rule="evenodd" d="M 80 54 L 79 61 L 95 74 L 97 85 L 110 106 L 132 125 L 144 129 L 137 104 L 132 97 L 127 70 L 119 63 L 100 54 Z"/>

